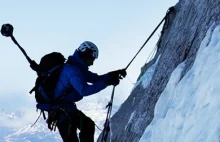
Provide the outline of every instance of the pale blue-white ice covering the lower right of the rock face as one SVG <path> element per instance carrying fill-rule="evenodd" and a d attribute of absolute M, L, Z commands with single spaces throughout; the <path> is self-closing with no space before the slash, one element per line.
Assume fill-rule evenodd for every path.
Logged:
<path fill-rule="evenodd" d="M 172 72 L 155 106 L 154 119 L 140 142 L 219 141 L 219 35 L 220 25 L 209 29 L 192 68 L 182 79 L 185 62 Z M 141 78 L 143 87 L 148 86 L 146 80 L 151 76 L 151 71 L 147 71 Z"/>

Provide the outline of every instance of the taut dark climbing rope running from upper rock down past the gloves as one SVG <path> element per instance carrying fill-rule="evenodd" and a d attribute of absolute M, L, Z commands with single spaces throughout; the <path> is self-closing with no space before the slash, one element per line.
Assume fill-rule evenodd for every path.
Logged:
<path fill-rule="evenodd" d="M 144 42 L 144 44 L 141 46 L 141 48 L 139 49 L 139 51 L 136 53 L 136 55 L 132 58 L 132 60 L 128 63 L 128 65 L 126 66 L 126 68 L 124 70 L 127 70 L 127 68 L 131 65 L 131 63 L 134 61 L 134 59 L 137 57 L 137 55 L 140 53 L 140 51 L 144 48 L 144 46 L 146 45 L 146 43 L 151 39 L 151 37 L 154 35 L 154 33 L 157 31 L 157 29 L 160 27 L 160 25 L 163 23 L 163 21 L 165 20 L 165 26 L 167 26 L 167 19 L 168 16 L 171 14 L 171 12 L 174 11 L 174 7 L 170 7 L 167 10 L 167 13 L 165 15 L 165 17 L 161 20 L 161 22 L 157 25 L 157 27 L 154 29 L 154 31 L 151 33 L 151 35 L 147 38 L 147 40 Z M 112 111 L 112 104 L 113 104 L 113 99 L 114 99 L 114 92 L 115 92 L 115 85 L 113 86 L 113 90 L 112 90 L 112 94 L 111 94 L 111 99 L 108 103 L 108 105 L 106 106 L 106 108 L 108 108 L 107 111 L 107 116 L 106 116 L 106 120 L 104 123 L 104 129 L 102 132 L 102 137 L 101 137 L 101 142 L 106 142 L 107 138 L 108 138 L 108 133 L 110 131 L 110 117 L 111 117 L 111 111 Z"/>

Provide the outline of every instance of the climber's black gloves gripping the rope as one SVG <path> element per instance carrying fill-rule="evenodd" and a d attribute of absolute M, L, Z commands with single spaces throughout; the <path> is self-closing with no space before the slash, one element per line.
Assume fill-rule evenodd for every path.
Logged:
<path fill-rule="evenodd" d="M 108 75 L 109 75 L 108 85 L 117 86 L 120 82 L 120 79 L 123 79 L 127 75 L 127 72 L 125 69 L 121 69 L 121 70 L 109 72 Z"/>

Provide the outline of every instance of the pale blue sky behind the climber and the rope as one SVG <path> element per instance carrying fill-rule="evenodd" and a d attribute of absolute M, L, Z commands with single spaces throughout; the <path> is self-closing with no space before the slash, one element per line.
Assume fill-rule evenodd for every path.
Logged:
<path fill-rule="evenodd" d="M 14 37 L 36 62 L 53 51 L 67 58 L 83 41 L 92 41 L 100 54 L 90 70 L 104 74 L 125 68 L 168 8 L 176 3 L 177 0 L 1 0 L 0 24 L 13 25 Z M 159 35 L 160 29 L 128 68 L 127 77 L 116 88 L 116 105 L 129 95 Z M 33 111 L 35 100 L 28 92 L 34 86 L 36 73 L 10 38 L 0 36 L 0 48 L 0 108 L 25 111 L 27 116 L 21 125 L 28 120 L 33 122 L 37 115 Z M 111 90 L 108 87 L 97 96 L 110 99 Z M 0 121 L 0 127 L 3 123 Z"/>

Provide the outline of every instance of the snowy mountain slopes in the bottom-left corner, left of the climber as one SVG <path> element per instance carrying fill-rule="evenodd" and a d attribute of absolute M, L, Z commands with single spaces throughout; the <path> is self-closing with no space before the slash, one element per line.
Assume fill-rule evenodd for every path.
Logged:
<path fill-rule="evenodd" d="M 19 124 L 17 124 L 19 123 L 19 121 L 22 121 L 22 119 L 24 119 L 24 116 L 25 115 L 22 112 L 8 113 L 5 110 L 1 111 L 1 122 L 7 123 L 7 125 L 2 127 L 3 124 L 1 124 L 0 141 L 61 141 L 59 135 L 48 131 L 48 128 L 43 120 L 39 120 L 39 122 L 33 127 L 31 127 L 31 123 L 24 126 L 20 126 Z M 34 122 L 34 120 L 31 121 Z"/>

